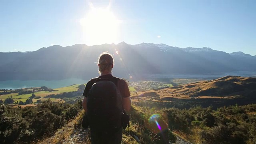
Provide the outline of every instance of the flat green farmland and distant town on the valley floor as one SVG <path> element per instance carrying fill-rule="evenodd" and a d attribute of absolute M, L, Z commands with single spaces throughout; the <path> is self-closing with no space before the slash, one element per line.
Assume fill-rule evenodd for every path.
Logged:
<path fill-rule="evenodd" d="M 129 82 L 130 92 L 131 94 L 136 93 L 141 90 L 152 90 L 159 88 L 168 88 L 171 87 L 172 84 L 163 83 L 163 82 L 154 82 L 154 81 L 142 81 L 142 82 Z M 81 86 L 81 88 L 79 88 Z M 16 90 L 0 90 L 0 100 L 5 102 L 6 99 L 12 99 L 13 103 L 10 102 L 8 104 L 12 104 L 12 106 L 36 106 L 40 102 L 50 99 L 53 102 L 69 102 L 74 103 L 78 99 L 82 99 L 82 93 L 84 91 L 84 84 L 73 84 L 71 86 L 66 86 L 62 88 L 22 88 Z M 28 94 L 23 94 L 28 93 Z M 34 97 L 32 96 L 34 94 Z M 31 101 L 27 104 L 23 104 L 26 100 Z M 23 102 L 23 103 L 22 103 Z M 6 103 L 7 104 L 7 103 Z"/>

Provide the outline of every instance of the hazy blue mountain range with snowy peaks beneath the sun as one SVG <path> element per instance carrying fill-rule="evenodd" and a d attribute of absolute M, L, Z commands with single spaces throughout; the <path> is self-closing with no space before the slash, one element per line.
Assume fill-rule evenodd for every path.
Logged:
<path fill-rule="evenodd" d="M 256 72 L 256 56 L 211 48 L 178 48 L 166 44 L 136 45 L 75 44 L 40 48 L 34 52 L 0 52 L 0 80 L 61 80 L 98 76 L 97 59 L 108 51 L 114 54 L 113 74 L 142 79 L 145 74 L 211 74 Z"/>

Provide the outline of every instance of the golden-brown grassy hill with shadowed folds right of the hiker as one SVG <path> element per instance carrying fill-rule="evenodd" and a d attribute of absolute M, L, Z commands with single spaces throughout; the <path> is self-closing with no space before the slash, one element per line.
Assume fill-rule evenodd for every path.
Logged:
<path fill-rule="evenodd" d="M 250 104 L 256 102 L 255 94 L 256 78 L 226 76 L 160 90 L 136 92 L 132 100 L 143 106 L 189 108 L 193 105 L 207 107 Z"/>

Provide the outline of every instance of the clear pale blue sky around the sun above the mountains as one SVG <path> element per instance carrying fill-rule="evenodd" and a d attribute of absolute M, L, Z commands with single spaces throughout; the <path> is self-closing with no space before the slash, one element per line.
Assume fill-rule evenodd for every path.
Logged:
<path fill-rule="evenodd" d="M 90 45 L 80 20 L 109 0 L 3 0 L 0 51 Z M 112 0 L 115 43 L 164 43 L 256 55 L 256 0 Z M 158 38 L 159 37 L 159 38 Z M 101 44 L 100 42 L 98 44 Z"/>

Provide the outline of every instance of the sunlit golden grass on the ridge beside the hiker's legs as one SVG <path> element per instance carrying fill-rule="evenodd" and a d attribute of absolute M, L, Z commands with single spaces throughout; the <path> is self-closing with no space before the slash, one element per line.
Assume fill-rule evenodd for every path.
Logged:
<path fill-rule="evenodd" d="M 154 108 L 133 105 L 129 112 L 130 127 L 123 131 L 122 144 L 162 144 L 162 137 L 156 131 L 156 124 L 148 122 L 150 116 L 155 113 L 160 114 L 161 112 Z M 83 115 L 84 111 L 82 110 L 74 120 L 58 130 L 54 136 L 37 144 L 90 144 L 90 129 L 84 130 L 81 127 Z M 162 122 L 165 121 L 162 120 Z M 168 128 L 161 134 L 166 134 L 168 138 Z"/>

